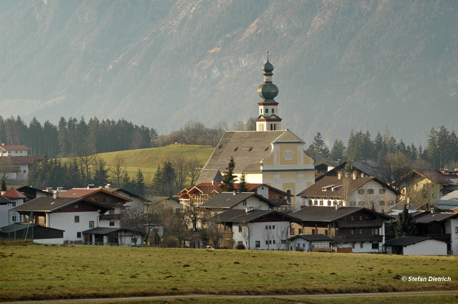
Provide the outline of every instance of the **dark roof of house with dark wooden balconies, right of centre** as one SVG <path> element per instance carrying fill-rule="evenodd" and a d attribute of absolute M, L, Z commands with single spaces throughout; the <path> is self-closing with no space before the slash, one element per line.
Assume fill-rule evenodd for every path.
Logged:
<path fill-rule="evenodd" d="M 365 210 L 367 212 L 376 213 L 381 217 L 386 219 L 391 219 L 391 217 L 375 212 L 373 210 L 364 208 L 364 207 L 341 207 L 336 210 L 335 207 L 324 207 L 324 206 L 307 206 L 296 212 L 289 213 L 289 215 L 294 216 L 302 221 L 323 221 L 323 222 L 332 222 L 338 220 L 346 215 L 355 213 L 357 211 Z"/>

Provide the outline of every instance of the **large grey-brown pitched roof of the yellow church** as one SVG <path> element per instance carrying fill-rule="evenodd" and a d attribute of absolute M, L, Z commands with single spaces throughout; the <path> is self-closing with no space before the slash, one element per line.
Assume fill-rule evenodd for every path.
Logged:
<path fill-rule="evenodd" d="M 225 171 L 234 157 L 234 172 L 259 172 L 261 160 L 272 152 L 271 144 L 287 130 L 281 131 L 226 131 L 202 169 L 197 183 L 209 182 L 216 170 Z"/>

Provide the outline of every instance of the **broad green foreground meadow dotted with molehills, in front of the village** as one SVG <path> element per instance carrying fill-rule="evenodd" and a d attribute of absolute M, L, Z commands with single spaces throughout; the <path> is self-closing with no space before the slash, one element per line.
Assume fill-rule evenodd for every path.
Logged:
<path fill-rule="evenodd" d="M 0 245 L 0 269 L 0 300 L 458 289 L 457 256 L 27 243 Z M 403 276 L 452 281 L 403 282 Z"/>

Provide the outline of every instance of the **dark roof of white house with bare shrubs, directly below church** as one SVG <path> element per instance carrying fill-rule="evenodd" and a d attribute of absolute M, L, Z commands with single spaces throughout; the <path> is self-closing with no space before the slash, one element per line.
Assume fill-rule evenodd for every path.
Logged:
<path fill-rule="evenodd" d="M 215 221 L 215 222 L 222 222 L 222 223 L 227 223 L 227 222 L 247 223 L 255 219 L 262 218 L 267 215 L 269 215 L 269 217 L 271 216 L 282 217 L 285 219 L 285 221 L 290 221 L 290 222 L 295 222 L 299 220 L 299 219 L 292 217 L 289 214 L 281 213 L 275 210 L 251 210 L 248 213 L 246 213 L 245 210 L 229 209 L 215 216 L 212 216 L 211 218 L 205 219 L 205 221 L 210 221 L 210 222 Z"/>

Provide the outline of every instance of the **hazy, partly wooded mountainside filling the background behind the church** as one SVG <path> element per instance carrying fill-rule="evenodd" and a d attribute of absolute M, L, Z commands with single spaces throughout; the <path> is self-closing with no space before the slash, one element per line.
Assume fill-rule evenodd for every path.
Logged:
<path fill-rule="evenodd" d="M 449 0 L 3 0 L 0 115 L 232 124 L 257 114 L 269 43 L 278 115 L 307 144 L 385 125 L 422 144 L 458 131 L 457 28 Z"/>

